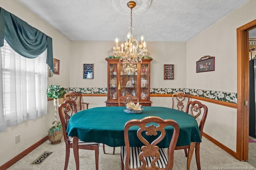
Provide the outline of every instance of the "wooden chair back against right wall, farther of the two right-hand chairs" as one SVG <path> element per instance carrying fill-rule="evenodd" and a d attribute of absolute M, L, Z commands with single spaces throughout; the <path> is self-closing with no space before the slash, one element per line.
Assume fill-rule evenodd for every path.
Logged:
<path fill-rule="evenodd" d="M 190 96 L 181 92 L 172 94 L 172 109 L 184 111 L 183 108 L 188 105 Z"/>

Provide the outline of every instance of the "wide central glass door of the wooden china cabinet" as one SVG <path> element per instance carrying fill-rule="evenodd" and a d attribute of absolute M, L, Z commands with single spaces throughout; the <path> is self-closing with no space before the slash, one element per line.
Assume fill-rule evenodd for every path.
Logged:
<path fill-rule="evenodd" d="M 137 64 L 121 64 L 121 96 L 130 94 L 138 96 L 137 92 Z"/>

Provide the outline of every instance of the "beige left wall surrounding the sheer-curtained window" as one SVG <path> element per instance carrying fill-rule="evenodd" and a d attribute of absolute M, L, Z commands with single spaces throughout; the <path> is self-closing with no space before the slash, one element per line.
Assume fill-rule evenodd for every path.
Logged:
<path fill-rule="evenodd" d="M 70 40 L 16 0 L 0 0 L 0 6 L 52 37 L 53 56 L 60 60 L 60 75 L 48 78 L 48 86 L 50 84 L 60 84 L 69 87 Z M 48 115 L 38 117 L 36 120 L 25 121 L 14 127 L 8 127 L 4 132 L 0 132 L 0 139 L 2 139 L 0 150 L 1 153 L 4 153 L 0 155 L 0 166 L 48 135 L 47 131 L 52 121 L 54 121 L 54 107 L 53 102 L 50 101 L 48 102 Z M 15 136 L 18 134 L 21 135 L 21 141 L 15 144 Z"/>

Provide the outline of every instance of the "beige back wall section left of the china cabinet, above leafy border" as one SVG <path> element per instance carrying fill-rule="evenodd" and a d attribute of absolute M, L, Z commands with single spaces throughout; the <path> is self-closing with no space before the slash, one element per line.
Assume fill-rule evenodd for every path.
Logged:
<path fill-rule="evenodd" d="M 71 41 L 70 87 L 107 87 L 108 41 Z M 94 78 L 83 78 L 83 64 L 94 64 Z"/>

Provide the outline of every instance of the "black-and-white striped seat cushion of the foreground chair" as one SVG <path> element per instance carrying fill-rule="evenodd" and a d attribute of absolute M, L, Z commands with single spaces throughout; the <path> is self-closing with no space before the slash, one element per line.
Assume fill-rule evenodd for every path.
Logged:
<path fill-rule="evenodd" d="M 130 147 L 130 168 L 138 168 L 139 166 L 142 165 L 142 162 L 140 161 L 139 158 L 139 154 L 141 152 L 140 147 Z M 163 148 L 159 149 L 159 153 L 160 153 L 160 158 L 159 160 L 155 163 L 156 166 L 158 166 L 158 168 L 165 168 L 166 164 L 168 162 L 167 160 L 167 155 L 164 152 Z M 121 147 L 121 155 L 124 161 L 124 165 L 125 165 L 125 156 L 126 156 L 126 148 L 125 147 Z M 147 167 L 151 167 L 150 162 L 153 160 L 152 157 L 148 157 L 145 158 L 147 162 Z"/>

